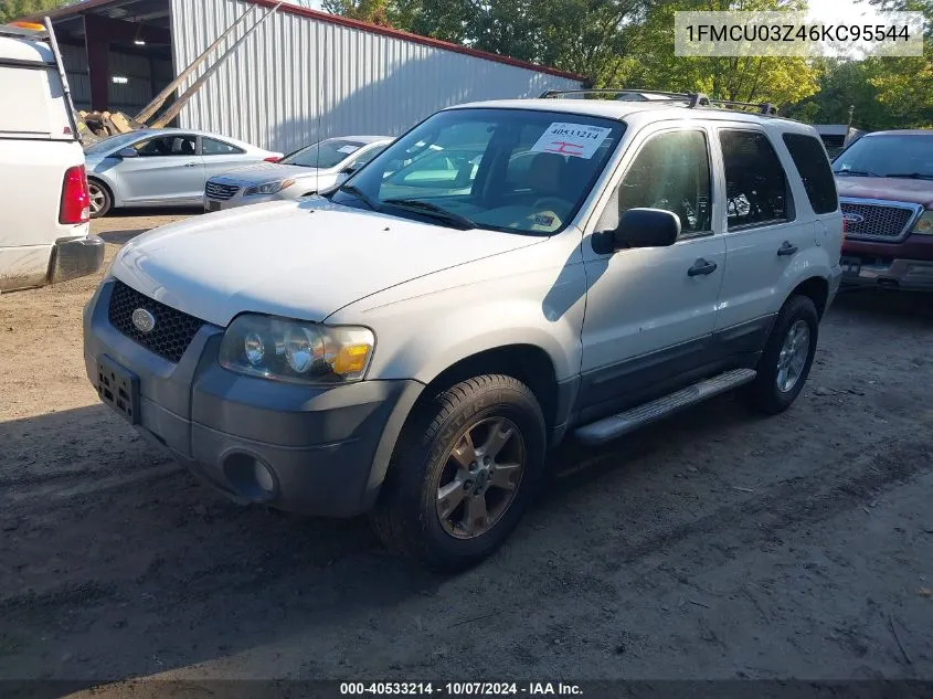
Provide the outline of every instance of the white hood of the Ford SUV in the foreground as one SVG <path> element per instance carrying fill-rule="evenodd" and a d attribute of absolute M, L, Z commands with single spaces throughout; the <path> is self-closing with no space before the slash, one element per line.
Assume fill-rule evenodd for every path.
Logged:
<path fill-rule="evenodd" d="M 113 274 L 219 326 L 243 311 L 321 321 L 377 292 L 544 240 L 458 231 L 315 198 L 156 229 L 124 246 Z"/>

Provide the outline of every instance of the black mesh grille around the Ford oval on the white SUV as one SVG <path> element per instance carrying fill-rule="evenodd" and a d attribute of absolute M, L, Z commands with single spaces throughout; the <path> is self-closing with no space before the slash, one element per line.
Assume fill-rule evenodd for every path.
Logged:
<path fill-rule="evenodd" d="M 145 308 L 156 317 L 150 332 L 142 332 L 134 325 L 132 311 L 137 308 Z M 110 325 L 123 335 L 176 364 L 204 325 L 203 320 L 160 304 L 119 280 L 114 283 L 107 311 Z"/>

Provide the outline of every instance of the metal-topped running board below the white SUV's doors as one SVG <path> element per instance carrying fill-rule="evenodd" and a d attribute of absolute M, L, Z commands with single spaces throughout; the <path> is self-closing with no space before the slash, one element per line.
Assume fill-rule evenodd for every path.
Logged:
<path fill-rule="evenodd" d="M 753 369 L 733 369 L 712 379 L 707 379 L 687 386 L 676 393 L 670 393 L 650 403 L 643 403 L 624 413 L 604 417 L 589 425 L 579 427 L 574 434 L 584 444 L 603 444 L 644 427 L 655 421 L 672 415 L 697 403 L 701 403 L 720 393 L 755 380 L 757 372 Z"/>

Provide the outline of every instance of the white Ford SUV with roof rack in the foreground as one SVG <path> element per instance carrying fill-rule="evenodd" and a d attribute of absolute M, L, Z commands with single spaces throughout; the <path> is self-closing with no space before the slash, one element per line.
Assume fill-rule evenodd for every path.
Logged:
<path fill-rule="evenodd" d="M 456 173 L 418 168 L 438 150 Z M 391 548 L 457 569 L 506 539 L 565 437 L 739 386 L 785 410 L 841 242 L 803 124 L 687 95 L 470 104 L 325 197 L 135 239 L 88 303 L 85 360 L 231 497 L 372 510 Z"/>

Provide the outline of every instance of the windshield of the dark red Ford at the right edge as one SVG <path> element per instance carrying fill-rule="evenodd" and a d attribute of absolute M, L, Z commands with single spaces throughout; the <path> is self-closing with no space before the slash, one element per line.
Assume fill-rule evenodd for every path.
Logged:
<path fill-rule="evenodd" d="M 933 131 L 866 136 L 833 162 L 837 174 L 933 179 Z"/>

